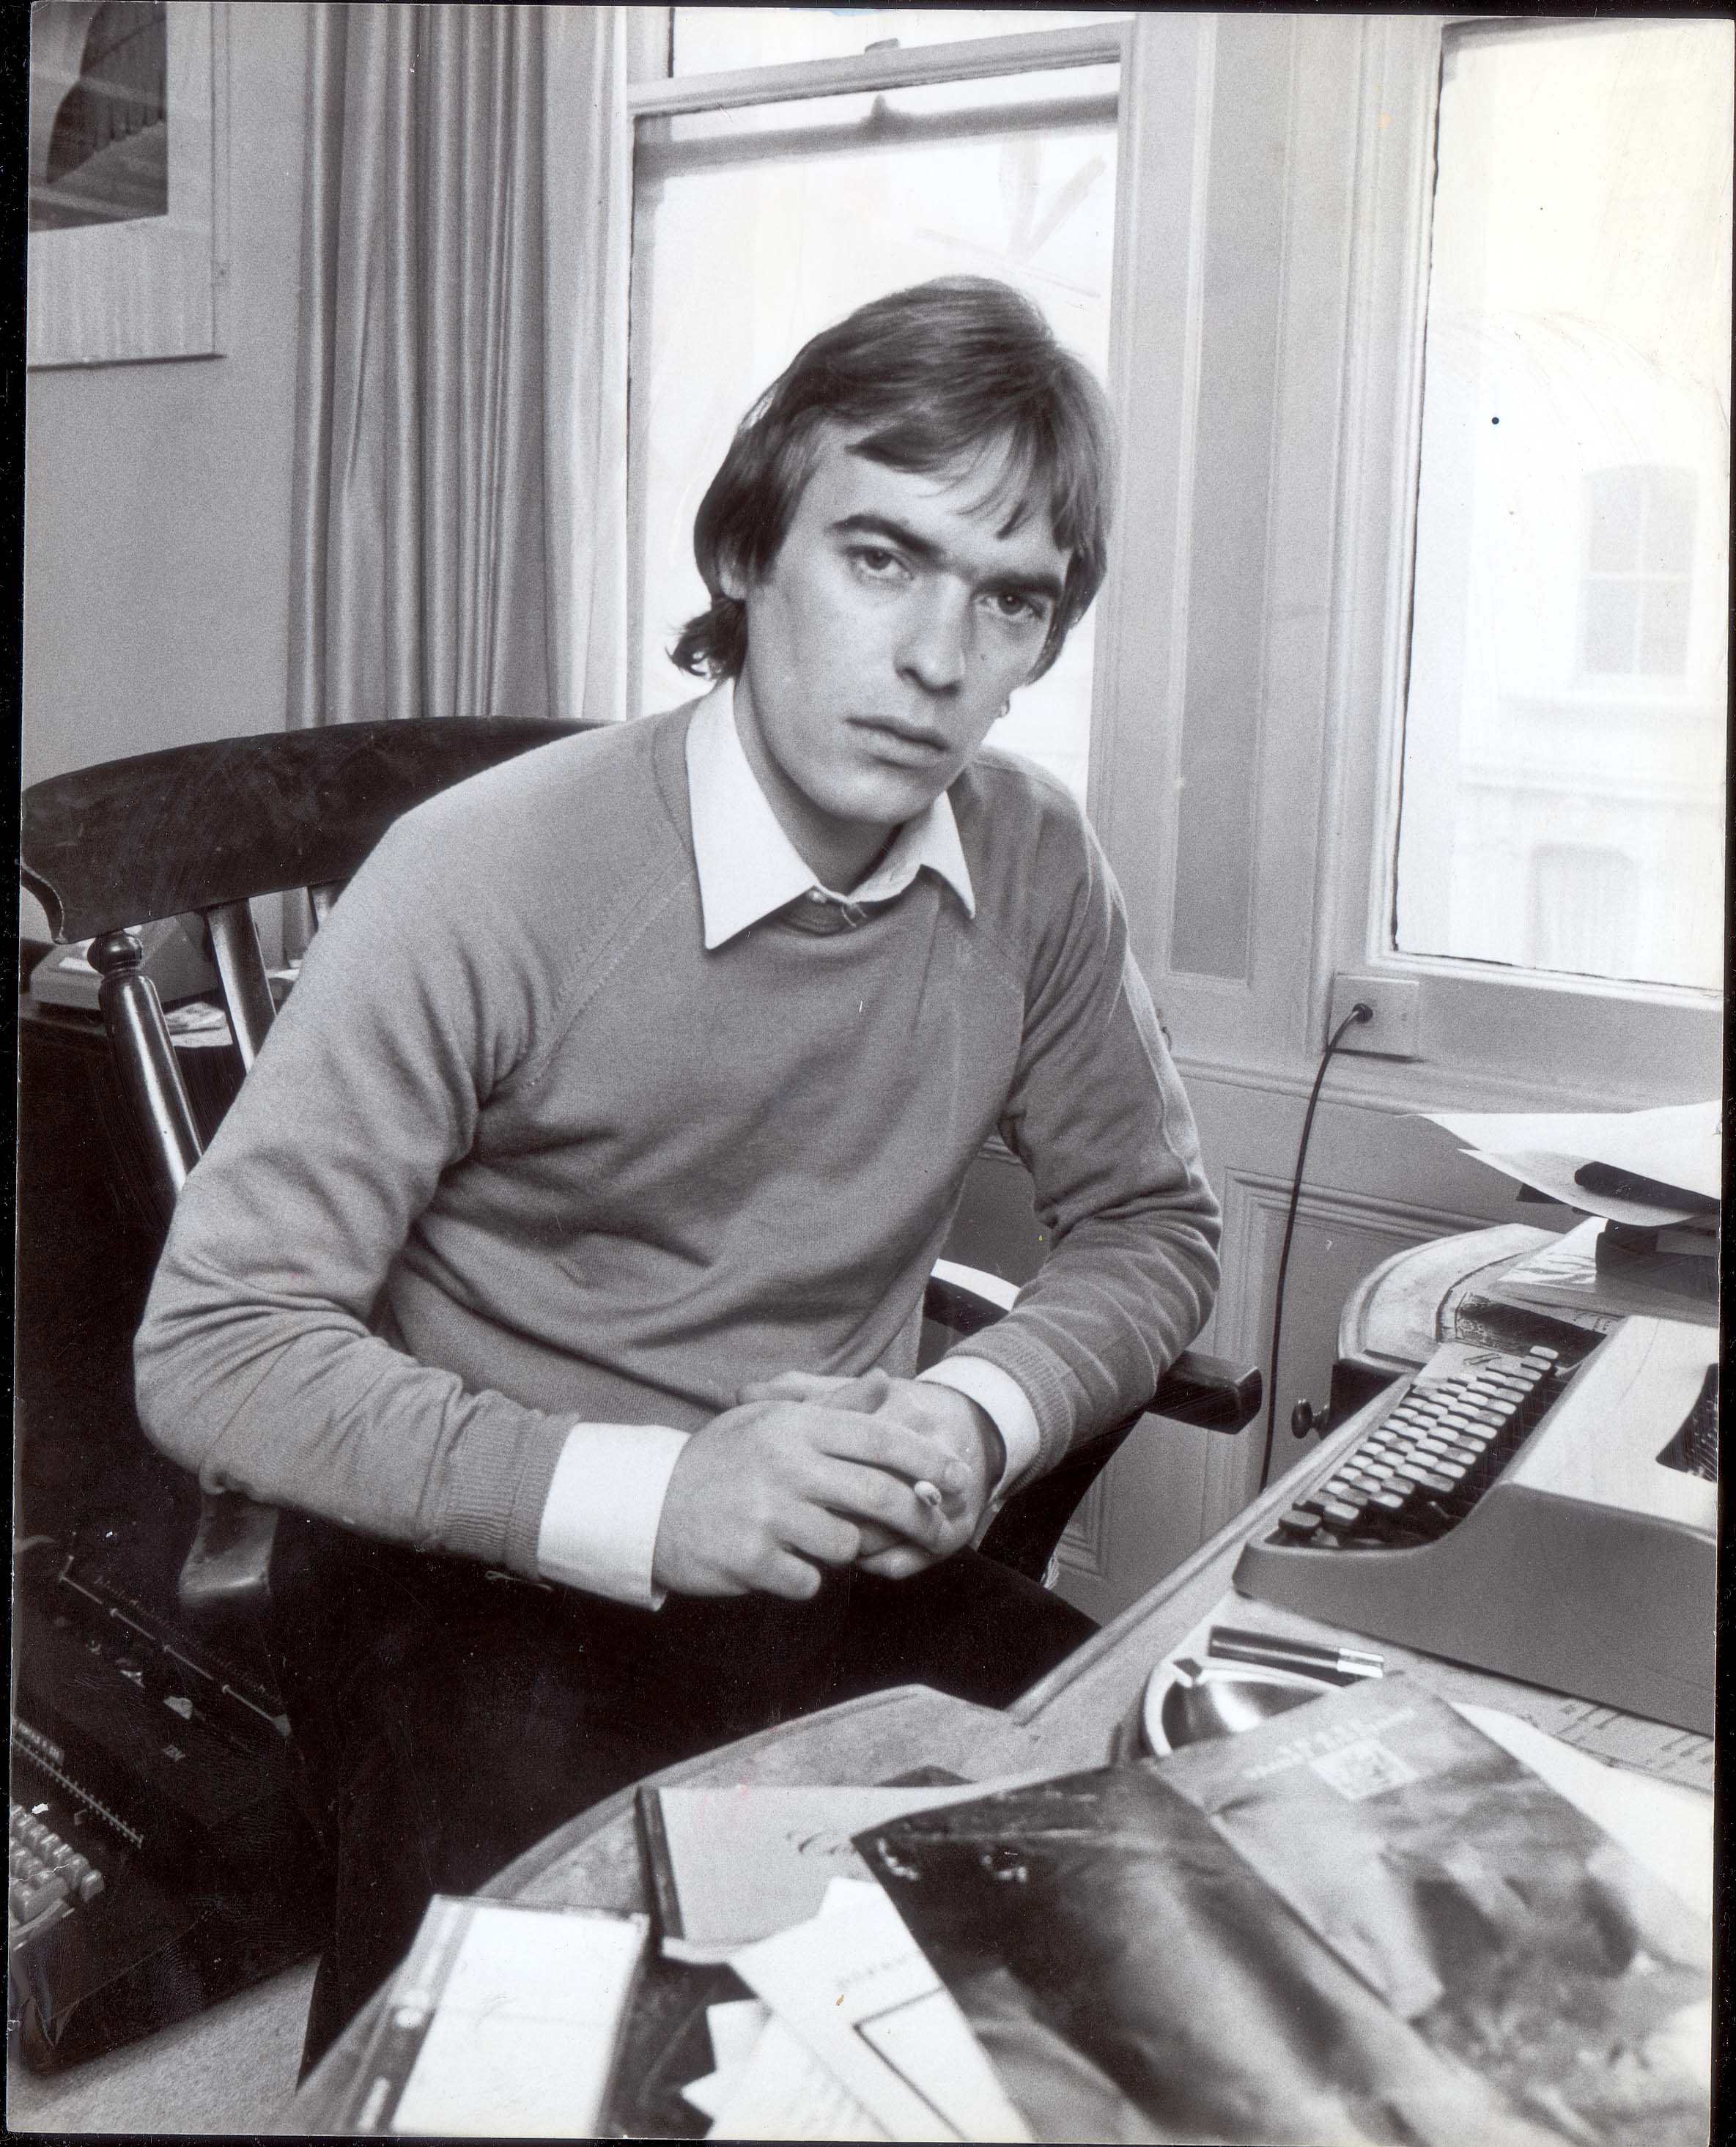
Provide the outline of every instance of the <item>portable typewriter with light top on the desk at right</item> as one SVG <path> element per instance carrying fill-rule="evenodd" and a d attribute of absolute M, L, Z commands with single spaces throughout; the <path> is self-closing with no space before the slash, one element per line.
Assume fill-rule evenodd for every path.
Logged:
<path fill-rule="evenodd" d="M 1710 1735 L 1717 1335 L 1448 1342 L 1236 1565 L 1354 1632 Z"/>

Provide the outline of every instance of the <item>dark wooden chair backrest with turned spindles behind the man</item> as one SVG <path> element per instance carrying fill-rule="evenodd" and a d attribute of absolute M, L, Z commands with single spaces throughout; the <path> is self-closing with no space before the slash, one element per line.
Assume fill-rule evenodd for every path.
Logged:
<path fill-rule="evenodd" d="M 165 1213 L 200 1136 L 135 925 L 204 919 L 242 1069 L 273 1020 L 251 897 L 307 889 L 318 923 L 399 814 L 590 726 L 418 719 L 176 745 L 24 792 L 24 885 L 90 940 L 99 1001 Z"/>

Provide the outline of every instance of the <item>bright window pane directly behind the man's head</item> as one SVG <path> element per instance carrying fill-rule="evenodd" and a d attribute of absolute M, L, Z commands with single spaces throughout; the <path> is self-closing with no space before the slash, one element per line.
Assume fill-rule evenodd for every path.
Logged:
<path fill-rule="evenodd" d="M 833 97 L 639 125 L 633 541 L 639 709 L 700 687 L 667 661 L 704 610 L 693 515 L 736 421 L 809 335 L 936 275 L 996 275 L 1099 374 L 1109 344 L 1116 71 Z M 996 743 L 1086 794 L 1092 616 L 1013 696 Z"/>

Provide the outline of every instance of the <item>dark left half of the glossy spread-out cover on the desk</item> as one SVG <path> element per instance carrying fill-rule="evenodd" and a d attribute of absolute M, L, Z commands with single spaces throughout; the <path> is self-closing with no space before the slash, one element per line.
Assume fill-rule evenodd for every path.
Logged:
<path fill-rule="evenodd" d="M 858 1849 L 1039 2141 L 1560 2147 L 1509 2123 L 1150 1763 Z"/>

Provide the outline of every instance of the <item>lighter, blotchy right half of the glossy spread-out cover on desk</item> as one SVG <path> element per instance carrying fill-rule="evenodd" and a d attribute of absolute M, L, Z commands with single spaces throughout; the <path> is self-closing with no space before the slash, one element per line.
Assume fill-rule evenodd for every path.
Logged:
<path fill-rule="evenodd" d="M 1163 1771 L 1393 2012 L 1562 2136 L 1706 2136 L 1708 1922 L 1414 1679 Z"/>

